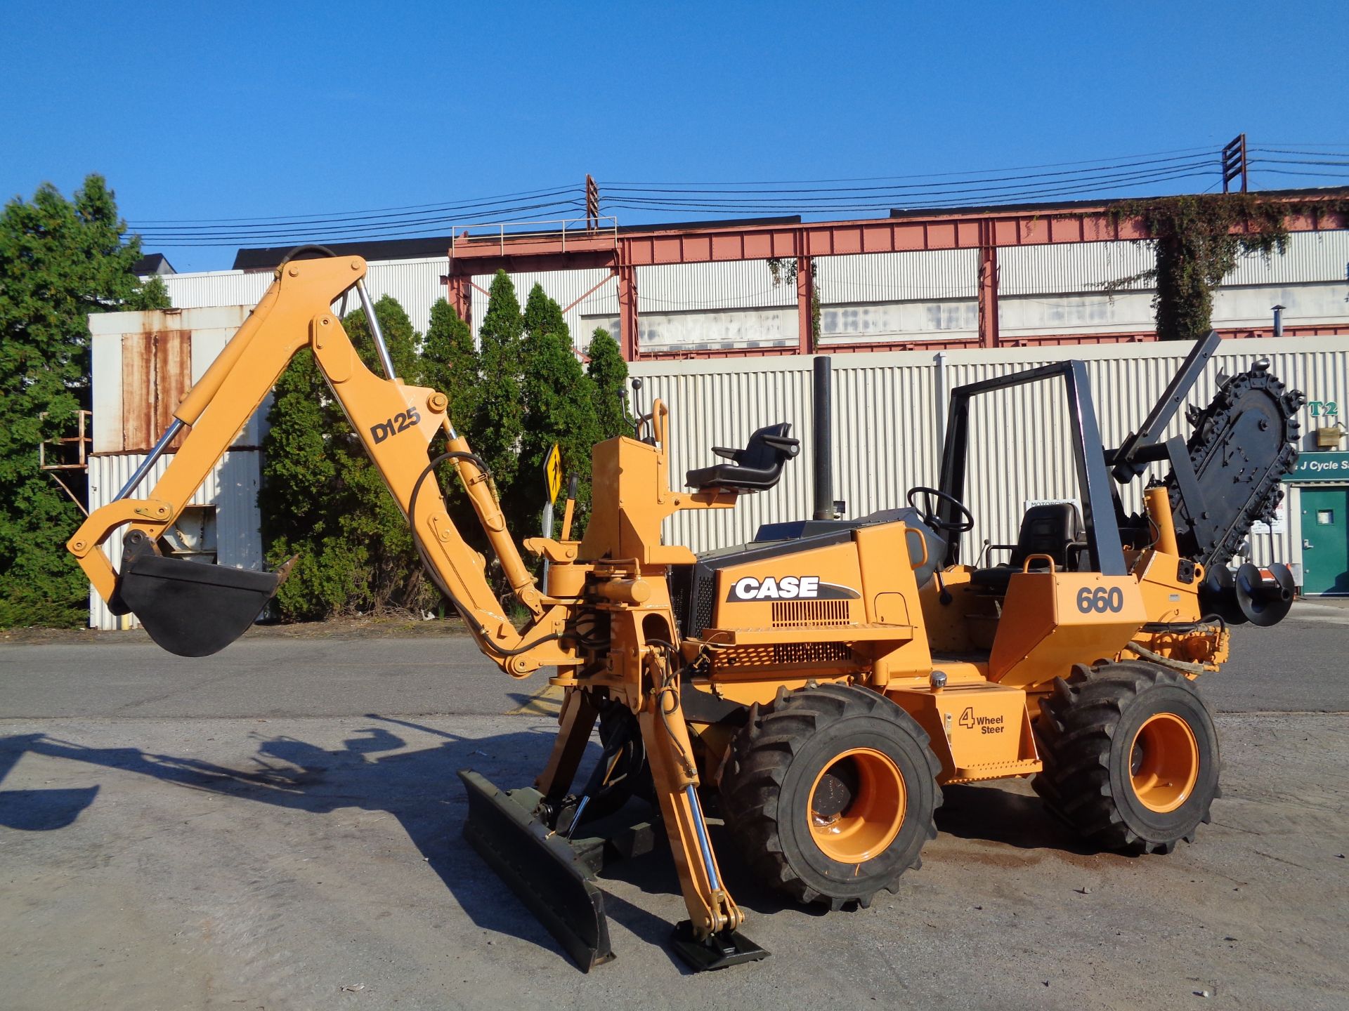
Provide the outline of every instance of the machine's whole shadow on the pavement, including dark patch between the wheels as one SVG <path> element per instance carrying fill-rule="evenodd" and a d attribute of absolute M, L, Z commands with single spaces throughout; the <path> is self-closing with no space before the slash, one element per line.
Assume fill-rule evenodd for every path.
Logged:
<path fill-rule="evenodd" d="M 0 737 L 0 786 L 24 754 L 62 758 L 89 766 L 136 772 L 174 786 L 254 801 L 287 810 L 328 814 L 359 807 L 391 814 L 409 840 L 440 876 L 455 900 L 479 927 L 521 938 L 568 956 L 548 930 L 511 895 L 507 886 L 480 860 L 463 837 L 467 798 L 457 782 L 460 768 L 473 767 L 503 787 L 527 785 L 522 768 L 542 767 L 553 741 L 542 727 L 494 737 L 464 739 L 415 723 L 367 714 L 364 727 L 340 748 L 289 736 L 255 735 L 251 767 L 232 768 L 194 758 L 159 755 L 134 747 L 93 748 L 43 733 Z M 394 731 L 407 728 L 441 739 L 440 744 L 407 751 Z M 393 729 L 391 729 L 393 728 Z M 598 752 L 598 745 L 592 745 Z M 28 832 L 58 830 L 74 822 L 100 794 L 98 786 L 54 790 L 0 789 L 0 825 Z M 1054 820 L 1033 797 L 979 786 L 947 787 L 938 826 L 952 836 L 987 840 L 1021 849 L 1056 849 L 1086 855 L 1077 837 Z M 631 801 L 625 810 L 633 821 L 652 818 L 652 809 Z M 757 883 L 728 833 L 710 820 L 723 876 L 747 911 L 769 915 L 793 907 L 823 915 L 823 907 L 800 907 Z M 600 875 L 649 895 L 679 896 L 677 875 L 664 829 L 654 825 L 657 842 L 642 856 L 608 863 Z M 635 937 L 666 952 L 680 972 L 688 968 L 669 950 L 672 922 L 606 890 L 612 921 Z M 683 918 L 683 909 L 672 918 Z"/>

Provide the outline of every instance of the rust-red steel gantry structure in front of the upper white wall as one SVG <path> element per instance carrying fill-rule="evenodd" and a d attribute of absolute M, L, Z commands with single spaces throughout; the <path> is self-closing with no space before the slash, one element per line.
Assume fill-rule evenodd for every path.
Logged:
<path fill-rule="evenodd" d="M 1278 190 L 1264 200 L 1287 204 L 1284 224 L 1290 232 L 1349 228 L 1342 208 L 1349 190 Z M 1155 236 L 1137 217 L 1121 208 L 1126 201 L 1068 201 L 956 210 L 890 212 L 888 218 L 855 221 L 758 220 L 687 225 L 618 228 L 602 225 L 606 218 L 588 216 L 584 222 L 560 222 L 557 231 L 507 232 L 495 235 L 464 232 L 452 239 L 449 274 L 445 278 L 449 303 L 465 322 L 469 319 L 473 276 L 522 271 L 603 268 L 610 275 L 576 299 L 590 297 L 610 280 L 618 284 L 621 317 L 619 344 L 629 361 L 641 355 L 638 346 L 637 270 L 670 264 L 728 263 L 738 260 L 785 260 L 796 264 L 796 305 L 799 342 L 788 348 L 727 350 L 731 355 L 807 355 L 812 348 L 813 271 L 817 256 L 917 252 L 938 249 L 978 251 L 978 338 L 955 341 L 923 340 L 897 344 L 867 344 L 866 350 L 897 350 L 909 346 L 996 348 L 998 336 L 998 249 L 1062 243 L 1148 240 Z M 608 220 L 611 221 L 611 220 Z M 581 228 L 581 225 L 584 225 Z M 1241 229 L 1236 229 L 1240 232 Z M 572 305 L 576 305 L 573 302 Z M 571 306 L 568 306 L 571 309 Z M 1145 340 L 1148 334 L 1112 334 L 1102 340 Z M 1062 337 L 1048 342 L 1066 342 Z M 1071 338 L 1070 338 L 1071 340 Z M 1087 338 L 1090 340 L 1090 338 Z M 1024 344 L 1025 341 L 1018 341 Z M 850 350 L 832 346 L 831 350 Z M 677 353 L 684 357 L 685 353 Z M 699 352 L 700 356 L 716 352 Z M 670 352 L 650 355 L 669 357 Z"/>

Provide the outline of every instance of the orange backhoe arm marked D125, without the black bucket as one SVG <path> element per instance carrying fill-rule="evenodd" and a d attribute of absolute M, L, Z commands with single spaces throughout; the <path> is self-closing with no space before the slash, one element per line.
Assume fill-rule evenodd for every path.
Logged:
<path fill-rule="evenodd" d="M 192 426 L 190 433 L 150 496 L 120 499 L 96 510 L 70 538 L 67 549 L 98 594 L 113 604 L 119 576 L 101 550 L 108 535 L 130 523 L 128 543 L 139 532 L 152 545 L 178 518 L 290 360 L 309 348 L 405 515 L 411 511 L 417 489 L 415 515 L 410 518 L 413 535 L 484 654 L 514 677 L 525 677 L 545 663 L 575 663 L 575 652 L 560 643 L 568 608 L 549 605 L 540 594 L 506 531 L 486 476 L 445 415 L 445 395 L 406 386 L 394 376 L 376 376 L 366 368 L 333 314 L 332 303 L 364 275 L 366 262 L 355 256 L 283 264 L 252 314 L 174 411 L 178 422 Z M 502 569 L 533 615 L 523 634 L 502 613 L 487 582 L 483 558 L 455 528 L 434 476 L 424 479 L 428 446 L 442 427 Z"/>

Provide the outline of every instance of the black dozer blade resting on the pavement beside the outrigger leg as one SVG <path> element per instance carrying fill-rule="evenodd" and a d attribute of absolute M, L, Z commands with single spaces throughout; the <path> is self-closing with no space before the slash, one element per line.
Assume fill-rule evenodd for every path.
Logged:
<path fill-rule="evenodd" d="M 604 892 L 571 844 L 472 770 L 460 770 L 468 790 L 464 838 L 580 967 L 590 972 L 614 960 Z M 537 798 L 533 790 L 523 791 Z"/>

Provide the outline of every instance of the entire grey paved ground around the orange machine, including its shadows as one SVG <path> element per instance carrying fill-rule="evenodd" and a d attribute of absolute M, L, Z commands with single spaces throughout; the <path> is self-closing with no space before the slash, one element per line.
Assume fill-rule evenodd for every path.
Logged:
<path fill-rule="evenodd" d="M 463 635 L 0 644 L 0 1007 L 1292 1008 L 1349 992 L 1349 611 L 1237 628 L 1201 679 L 1224 797 L 1194 845 L 1083 845 L 1025 780 L 947 787 L 921 869 L 819 915 L 712 825 L 764 962 L 692 976 L 661 849 L 600 884 L 580 973 L 463 840 L 459 768 L 542 766 L 556 698 Z"/>

